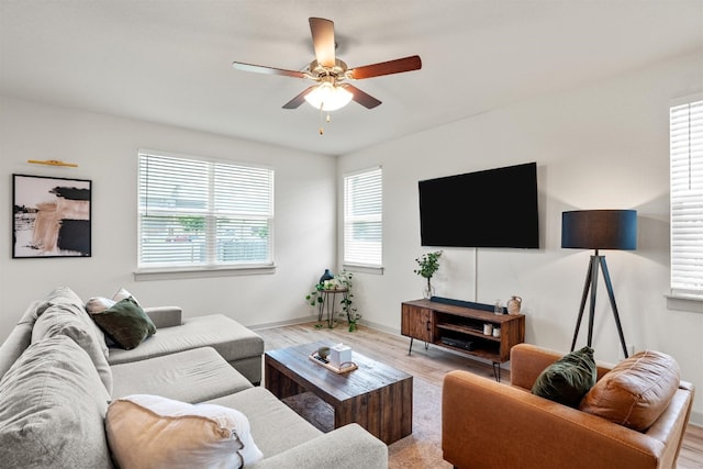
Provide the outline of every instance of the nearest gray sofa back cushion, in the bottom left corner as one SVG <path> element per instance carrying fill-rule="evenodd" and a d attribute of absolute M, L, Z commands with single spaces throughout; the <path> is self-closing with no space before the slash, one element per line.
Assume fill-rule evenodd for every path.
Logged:
<path fill-rule="evenodd" d="M 31 345 L 0 381 L 0 465 L 110 468 L 108 391 L 71 338 Z"/>

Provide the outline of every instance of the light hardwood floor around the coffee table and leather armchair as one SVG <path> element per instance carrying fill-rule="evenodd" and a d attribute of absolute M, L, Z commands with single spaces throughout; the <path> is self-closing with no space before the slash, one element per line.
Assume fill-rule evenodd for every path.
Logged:
<path fill-rule="evenodd" d="M 272 350 L 292 345 L 305 344 L 322 339 L 330 339 L 335 343 L 345 343 L 368 357 L 383 361 L 408 373 L 411 373 L 424 381 L 442 387 L 442 379 L 448 371 L 455 369 L 466 369 L 477 375 L 493 377 L 491 365 L 483 364 L 470 358 L 448 353 L 438 347 L 429 346 L 424 348 L 423 343 L 415 340 L 413 351 L 408 355 L 410 339 L 400 335 L 388 334 L 362 325 L 354 333 L 347 332 L 344 324 L 335 328 L 314 328 L 314 323 L 298 324 L 282 327 L 258 330 L 257 333 L 264 337 L 266 349 Z M 502 371 L 503 380 L 510 379 L 510 373 Z M 440 426 L 440 415 L 437 415 L 436 425 Z M 391 451 L 391 466 L 393 464 Z M 399 462 L 399 461 L 395 461 Z M 408 465 L 402 465 L 410 467 Z M 417 466 L 415 466 L 417 467 Z M 436 461 L 423 464 L 423 468 L 445 468 L 446 461 L 440 457 Z M 450 466 L 449 466 L 450 467 Z M 689 425 L 681 455 L 679 456 L 678 469 L 702 469 L 703 468 L 703 427 Z"/>

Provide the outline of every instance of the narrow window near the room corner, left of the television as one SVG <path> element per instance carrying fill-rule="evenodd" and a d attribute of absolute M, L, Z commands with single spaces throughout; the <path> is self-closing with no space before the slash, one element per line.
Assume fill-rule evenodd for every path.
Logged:
<path fill-rule="evenodd" d="M 344 177 L 344 264 L 381 267 L 381 168 Z"/>

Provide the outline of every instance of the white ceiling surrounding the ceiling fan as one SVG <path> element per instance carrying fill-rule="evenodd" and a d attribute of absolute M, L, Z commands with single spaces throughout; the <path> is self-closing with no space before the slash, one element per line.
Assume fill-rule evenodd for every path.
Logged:
<path fill-rule="evenodd" d="M 417 54 L 354 85 L 383 103 L 281 107 L 309 16 L 349 67 Z M 0 0 L 0 94 L 342 155 L 677 55 L 703 58 L 703 0 Z M 703 59 L 702 59 L 703 67 Z"/>

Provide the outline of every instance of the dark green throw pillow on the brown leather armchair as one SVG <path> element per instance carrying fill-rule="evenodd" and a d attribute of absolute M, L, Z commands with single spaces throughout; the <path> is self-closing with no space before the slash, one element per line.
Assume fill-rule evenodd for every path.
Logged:
<path fill-rule="evenodd" d="M 565 355 L 545 368 L 532 387 L 532 392 L 578 409 L 581 399 L 595 384 L 596 377 L 593 349 L 583 347 Z"/>

